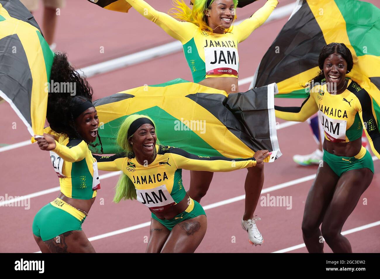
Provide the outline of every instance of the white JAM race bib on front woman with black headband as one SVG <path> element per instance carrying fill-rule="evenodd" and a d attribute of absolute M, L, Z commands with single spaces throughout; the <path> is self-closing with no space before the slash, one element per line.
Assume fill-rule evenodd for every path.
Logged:
<path fill-rule="evenodd" d="M 152 189 L 136 189 L 137 200 L 157 212 L 176 204 L 166 189 L 165 184 Z"/>

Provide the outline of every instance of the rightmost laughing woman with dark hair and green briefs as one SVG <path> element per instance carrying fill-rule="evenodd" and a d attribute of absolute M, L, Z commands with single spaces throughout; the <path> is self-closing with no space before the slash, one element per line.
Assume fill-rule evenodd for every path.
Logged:
<path fill-rule="evenodd" d="M 363 126 L 380 159 L 378 119 L 372 97 L 346 77 L 353 59 L 345 44 L 323 47 L 318 65 L 321 71 L 302 106 L 275 106 L 275 113 L 284 120 L 305 121 L 318 112 L 325 131 L 323 164 L 307 195 L 302 235 L 309 252 L 323 252 L 323 236 L 333 252 L 348 253 L 351 244 L 342 227 L 374 177 L 374 162 L 361 143 Z"/>

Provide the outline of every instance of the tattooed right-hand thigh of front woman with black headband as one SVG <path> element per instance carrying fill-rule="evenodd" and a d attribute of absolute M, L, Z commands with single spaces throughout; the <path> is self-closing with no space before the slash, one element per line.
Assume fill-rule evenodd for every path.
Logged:
<path fill-rule="evenodd" d="M 161 253 L 193 253 L 201 244 L 206 229 L 206 215 L 178 223 L 171 230 Z"/>

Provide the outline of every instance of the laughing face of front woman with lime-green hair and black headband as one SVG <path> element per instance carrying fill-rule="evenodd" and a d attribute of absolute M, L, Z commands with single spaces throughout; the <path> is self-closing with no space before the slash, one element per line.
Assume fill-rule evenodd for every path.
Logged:
<path fill-rule="evenodd" d="M 136 158 L 152 158 L 154 156 L 154 148 L 157 136 L 154 127 L 151 124 L 141 125 L 133 136 L 129 139 L 132 144 L 133 152 Z M 143 161 L 139 160 L 139 161 Z"/>

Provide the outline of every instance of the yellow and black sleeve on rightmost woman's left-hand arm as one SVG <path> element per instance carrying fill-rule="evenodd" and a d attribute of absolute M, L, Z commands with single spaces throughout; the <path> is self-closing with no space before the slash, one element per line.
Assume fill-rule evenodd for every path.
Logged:
<path fill-rule="evenodd" d="M 288 121 L 304 122 L 318 111 L 317 103 L 314 98 L 309 95 L 302 103 L 301 107 L 279 107 L 274 106 L 275 115 L 278 118 Z"/>

